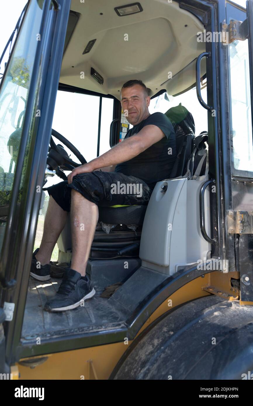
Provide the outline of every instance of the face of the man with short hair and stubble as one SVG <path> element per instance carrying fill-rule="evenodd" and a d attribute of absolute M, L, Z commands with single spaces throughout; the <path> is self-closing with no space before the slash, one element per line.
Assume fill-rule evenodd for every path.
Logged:
<path fill-rule="evenodd" d="M 130 124 L 141 123 L 149 114 L 150 97 L 139 84 L 121 89 L 121 107 Z"/>

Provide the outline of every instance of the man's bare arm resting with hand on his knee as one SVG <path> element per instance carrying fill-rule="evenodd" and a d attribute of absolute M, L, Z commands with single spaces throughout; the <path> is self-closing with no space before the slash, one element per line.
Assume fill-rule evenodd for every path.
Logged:
<path fill-rule="evenodd" d="M 162 130 L 156 125 L 146 125 L 138 134 L 126 138 L 109 151 L 103 153 L 92 161 L 78 166 L 68 175 L 68 183 L 79 173 L 93 172 L 106 166 L 113 166 L 128 161 L 164 137 Z"/>

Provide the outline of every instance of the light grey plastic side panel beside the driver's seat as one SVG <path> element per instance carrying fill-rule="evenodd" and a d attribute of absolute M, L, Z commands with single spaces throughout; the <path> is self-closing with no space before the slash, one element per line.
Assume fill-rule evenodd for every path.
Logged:
<path fill-rule="evenodd" d="M 141 235 L 143 266 L 173 275 L 178 266 L 205 261 L 210 244 L 200 231 L 199 193 L 203 182 L 173 179 L 158 182 L 152 193 Z M 167 186 L 162 192 L 161 186 Z M 206 231 L 210 235 L 210 199 L 205 192 Z M 158 267 L 161 267 L 160 269 Z"/>

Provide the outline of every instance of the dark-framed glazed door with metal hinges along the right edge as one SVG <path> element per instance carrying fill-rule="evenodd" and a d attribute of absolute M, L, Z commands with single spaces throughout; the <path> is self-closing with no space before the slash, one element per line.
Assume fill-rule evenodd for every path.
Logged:
<path fill-rule="evenodd" d="M 227 230 L 234 238 L 240 299 L 253 302 L 253 0 L 246 9 L 227 2 L 226 20 L 232 200 Z"/>

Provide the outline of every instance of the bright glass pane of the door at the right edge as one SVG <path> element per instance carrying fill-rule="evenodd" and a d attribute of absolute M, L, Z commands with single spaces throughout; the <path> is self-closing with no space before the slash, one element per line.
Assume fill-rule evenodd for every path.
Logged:
<path fill-rule="evenodd" d="M 230 4 L 227 4 L 226 10 L 227 24 L 231 19 L 246 19 L 246 13 L 238 11 Z M 228 69 L 232 173 L 252 177 L 253 134 L 248 39 L 229 44 Z"/>

